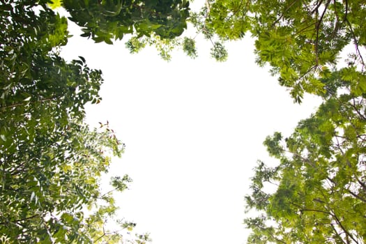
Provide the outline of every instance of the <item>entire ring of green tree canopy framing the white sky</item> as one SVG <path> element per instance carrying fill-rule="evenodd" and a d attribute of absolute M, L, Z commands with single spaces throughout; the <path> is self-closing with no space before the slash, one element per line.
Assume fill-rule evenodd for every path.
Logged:
<path fill-rule="evenodd" d="M 124 144 L 108 123 L 93 129 L 84 122 L 86 103 L 101 100 L 102 72 L 82 56 L 60 56 L 68 20 L 52 10 L 58 5 L 82 36 L 112 44 L 131 34 L 131 52 L 156 45 L 164 59 L 177 45 L 197 56 L 194 38 L 178 38 L 187 22 L 218 61 L 227 59 L 226 41 L 250 33 L 257 63 L 268 64 L 296 102 L 312 93 L 323 104 L 289 137 L 266 138 L 276 163 L 254 169 L 245 201 L 260 214 L 245 219 L 248 242 L 365 242 L 366 8 L 358 0 L 208 0 L 197 13 L 185 0 L 1 1 L 2 242 L 119 243 L 135 227 L 114 220 L 113 192 L 131 179 L 114 176 L 107 192 L 100 188 Z M 131 242 L 148 241 L 142 234 Z"/>

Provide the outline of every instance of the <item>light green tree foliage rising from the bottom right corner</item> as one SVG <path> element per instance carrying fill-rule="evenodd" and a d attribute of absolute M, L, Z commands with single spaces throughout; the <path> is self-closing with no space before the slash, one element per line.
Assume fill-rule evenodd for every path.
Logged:
<path fill-rule="evenodd" d="M 365 242 L 365 93 L 337 93 L 290 137 L 266 138 L 279 162 L 254 169 L 246 202 L 261 215 L 245 219 L 248 243 Z"/>

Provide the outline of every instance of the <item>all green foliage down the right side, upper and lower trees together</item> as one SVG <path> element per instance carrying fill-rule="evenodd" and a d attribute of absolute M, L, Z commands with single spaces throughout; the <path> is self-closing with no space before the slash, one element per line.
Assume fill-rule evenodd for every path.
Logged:
<path fill-rule="evenodd" d="M 204 28 L 223 39 L 256 38 L 296 102 L 323 98 L 293 134 L 264 144 L 276 163 L 254 169 L 248 243 L 364 243 L 366 239 L 365 4 L 362 1 L 213 1 Z M 342 63 L 346 45 L 348 58 Z"/>

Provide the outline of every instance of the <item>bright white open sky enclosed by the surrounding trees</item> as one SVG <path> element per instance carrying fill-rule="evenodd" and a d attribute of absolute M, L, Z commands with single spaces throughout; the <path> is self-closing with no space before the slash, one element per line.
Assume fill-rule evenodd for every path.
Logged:
<path fill-rule="evenodd" d="M 262 142 L 275 131 L 288 136 L 315 111 L 307 97 L 289 93 L 254 63 L 253 41 L 230 43 L 217 63 L 199 41 L 199 58 L 183 52 L 162 61 L 152 48 L 129 54 L 126 40 L 96 44 L 75 34 L 63 50 L 103 71 L 99 105 L 89 123 L 109 121 L 126 144 L 112 174 L 129 174 L 130 190 L 117 199 L 121 215 L 150 232 L 153 244 L 241 244 L 248 232 L 244 196 Z"/>

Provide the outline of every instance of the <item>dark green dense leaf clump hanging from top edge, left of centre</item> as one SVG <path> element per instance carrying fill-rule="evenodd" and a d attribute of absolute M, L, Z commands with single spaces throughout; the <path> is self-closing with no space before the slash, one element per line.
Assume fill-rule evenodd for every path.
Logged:
<path fill-rule="evenodd" d="M 62 6 L 70 13 L 70 20 L 82 27 L 82 36 L 108 44 L 131 33 L 175 38 L 187 27 L 189 16 L 185 0 L 63 0 Z"/>

